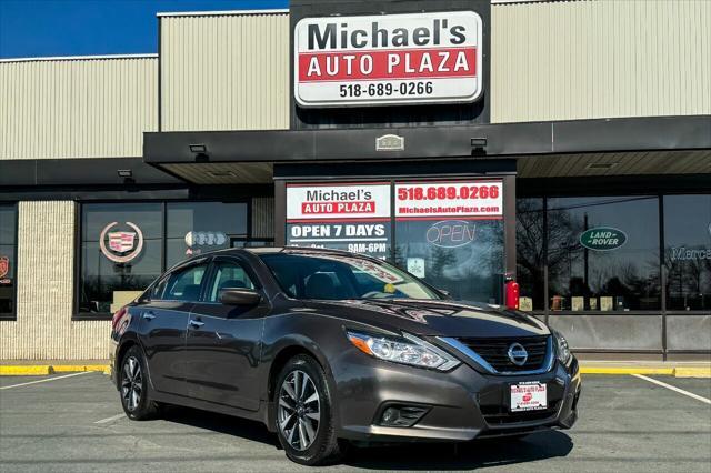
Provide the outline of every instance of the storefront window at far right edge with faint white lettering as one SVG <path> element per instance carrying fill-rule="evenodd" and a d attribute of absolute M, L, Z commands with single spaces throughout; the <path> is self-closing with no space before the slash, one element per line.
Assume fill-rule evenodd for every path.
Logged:
<path fill-rule="evenodd" d="M 711 310 L 711 195 L 664 197 L 668 310 Z"/>

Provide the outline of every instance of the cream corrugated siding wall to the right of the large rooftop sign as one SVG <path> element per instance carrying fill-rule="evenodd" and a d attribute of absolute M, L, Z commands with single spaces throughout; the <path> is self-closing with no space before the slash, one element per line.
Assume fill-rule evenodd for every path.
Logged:
<path fill-rule="evenodd" d="M 491 7 L 494 123 L 711 114 L 711 1 Z"/>

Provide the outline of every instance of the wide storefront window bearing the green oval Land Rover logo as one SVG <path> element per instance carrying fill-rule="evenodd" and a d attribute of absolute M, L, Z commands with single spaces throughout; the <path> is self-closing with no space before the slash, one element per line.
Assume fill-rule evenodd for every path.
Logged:
<path fill-rule="evenodd" d="M 661 309 L 659 200 L 548 200 L 551 311 Z"/>

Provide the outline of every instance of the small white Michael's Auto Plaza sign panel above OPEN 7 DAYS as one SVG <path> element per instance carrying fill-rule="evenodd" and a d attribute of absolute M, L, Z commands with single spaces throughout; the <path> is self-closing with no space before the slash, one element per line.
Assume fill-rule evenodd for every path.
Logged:
<path fill-rule="evenodd" d="M 389 183 L 287 185 L 287 221 L 389 218 Z"/>

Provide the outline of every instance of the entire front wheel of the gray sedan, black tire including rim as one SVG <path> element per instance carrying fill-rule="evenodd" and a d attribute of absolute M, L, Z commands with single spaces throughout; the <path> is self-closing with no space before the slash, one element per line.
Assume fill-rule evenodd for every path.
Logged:
<path fill-rule="evenodd" d="M 293 391 L 294 381 L 303 386 L 300 393 Z M 314 392 L 318 400 L 309 401 Z M 287 362 L 277 376 L 273 401 L 277 436 L 291 461 L 317 466 L 336 463 L 344 456 L 348 444 L 336 437 L 331 393 L 326 373 L 314 359 L 298 355 Z M 303 443 L 302 439 L 306 439 Z"/>

